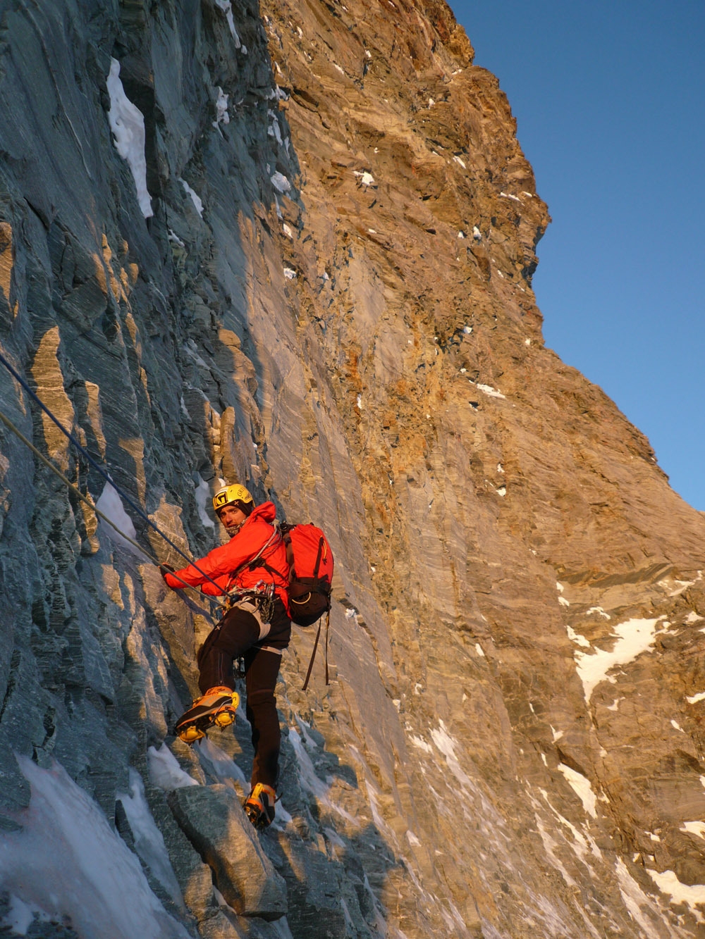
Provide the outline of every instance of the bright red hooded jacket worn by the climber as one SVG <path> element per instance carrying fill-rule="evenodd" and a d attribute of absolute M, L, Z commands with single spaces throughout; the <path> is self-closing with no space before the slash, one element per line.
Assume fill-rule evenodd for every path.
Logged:
<path fill-rule="evenodd" d="M 237 577 L 233 577 L 241 564 L 251 561 L 258 550 L 272 537 L 274 526 L 270 522 L 274 521 L 275 516 L 274 502 L 263 502 L 253 510 L 251 516 L 245 519 L 241 530 L 230 538 L 227 545 L 214 547 L 205 558 L 196 562 L 200 570 L 218 584 L 220 590 L 196 570 L 195 564 L 189 564 L 188 567 L 181 568 L 175 574 L 190 586 L 200 586 L 203 593 L 210 593 L 213 596 L 227 593 L 237 587 L 251 590 L 261 580 L 267 585 L 274 582 L 274 592 L 281 599 L 289 614 L 289 563 L 281 536 L 275 535 L 270 545 L 258 558 L 258 562 L 266 561 L 271 570 L 257 567 L 251 571 L 249 567 L 245 567 Z M 164 580 L 175 590 L 183 587 L 180 580 L 171 574 L 164 575 Z"/>

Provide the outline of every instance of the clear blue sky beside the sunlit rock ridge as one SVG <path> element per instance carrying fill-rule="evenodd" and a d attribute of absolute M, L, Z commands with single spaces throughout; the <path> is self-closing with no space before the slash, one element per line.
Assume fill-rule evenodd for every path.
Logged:
<path fill-rule="evenodd" d="M 553 223 L 546 345 L 705 510 L 705 4 L 451 0 L 507 93 Z"/>

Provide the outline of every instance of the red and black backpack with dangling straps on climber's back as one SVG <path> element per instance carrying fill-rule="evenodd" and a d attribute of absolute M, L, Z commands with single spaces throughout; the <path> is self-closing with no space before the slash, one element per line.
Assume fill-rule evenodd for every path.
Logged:
<path fill-rule="evenodd" d="M 287 548 L 290 563 L 289 605 L 291 622 L 299 626 L 310 626 L 326 614 L 325 626 L 325 684 L 328 678 L 328 630 L 331 622 L 331 583 L 333 580 L 333 551 L 320 528 L 315 525 L 279 526 Z M 308 663 L 303 690 L 308 686 L 313 661 L 321 639 L 319 622 L 316 641 L 313 644 L 311 661 Z"/>

